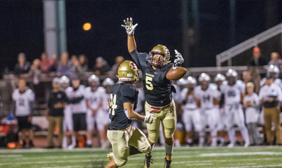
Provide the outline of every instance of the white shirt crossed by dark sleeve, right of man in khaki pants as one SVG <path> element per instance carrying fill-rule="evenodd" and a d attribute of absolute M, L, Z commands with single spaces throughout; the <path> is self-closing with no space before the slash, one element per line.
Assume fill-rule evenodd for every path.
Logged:
<path fill-rule="evenodd" d="M 83 96 L 84 98 L 76 104 L 71 104 L 71 110 L 73 114 L 79 114 L 79 113 L 86 113 L 86 101 L 85 101 L 85 86 L 80 85 L 76 91 L 73 90 L 73 87 L 68 87 L 65 90 L 65 94 L 69 99 L 74 99 Z"/>

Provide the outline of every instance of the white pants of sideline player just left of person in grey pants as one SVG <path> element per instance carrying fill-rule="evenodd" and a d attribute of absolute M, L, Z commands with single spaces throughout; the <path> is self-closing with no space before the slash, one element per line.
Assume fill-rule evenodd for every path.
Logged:
<path fill-rule="evenodd" d="M 245 125 L 244 113 L 241 105 L 234 104 L 226 104 L 224 106 L 225 113 L 227 114 L 227 130 L 230 143 L 235 145 L 236 137 L 235 137 L 235 129 L 234 124 L 236 124 L 240 131 L 243 139 L 245 141 L 245 145 L 250 144 L 248 129 Z"/>

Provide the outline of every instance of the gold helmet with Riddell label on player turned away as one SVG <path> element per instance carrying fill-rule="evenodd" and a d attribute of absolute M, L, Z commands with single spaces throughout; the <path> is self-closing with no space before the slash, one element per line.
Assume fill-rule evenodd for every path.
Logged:
<path fill-rule="evenodd" d="M 132 61 L 123 61 L 118 67 L 118 79 L 120 81 L 138 81 L 139 69 Z"/>

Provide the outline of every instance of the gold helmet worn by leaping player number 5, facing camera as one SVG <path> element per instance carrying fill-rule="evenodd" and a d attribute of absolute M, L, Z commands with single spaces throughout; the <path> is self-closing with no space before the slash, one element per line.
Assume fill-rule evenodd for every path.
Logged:
<path fill-rule="evenodd" d="M 164 59 L 153 58 L 154 54 L 164 56 Z M 157 45 L 149 52 L 149 63 L 155 67 L 162 67 L 170 63 L 170 51 L 164 45 Z"/>

